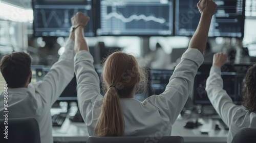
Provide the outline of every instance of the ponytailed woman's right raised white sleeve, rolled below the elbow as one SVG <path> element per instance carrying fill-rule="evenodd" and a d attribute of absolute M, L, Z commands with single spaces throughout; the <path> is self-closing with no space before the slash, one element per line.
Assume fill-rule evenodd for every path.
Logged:
<path fill-rule="evenodd" d="M 198 67 L 203 63 L 203 55 L 197 49 L 189 48 L 182 55 L 165 91 L 159 96 L 147 98 L 143 104 L 151 103 L 158 108 L 160 115 L 173 125 L 183 109 L 193 88 Z"/>

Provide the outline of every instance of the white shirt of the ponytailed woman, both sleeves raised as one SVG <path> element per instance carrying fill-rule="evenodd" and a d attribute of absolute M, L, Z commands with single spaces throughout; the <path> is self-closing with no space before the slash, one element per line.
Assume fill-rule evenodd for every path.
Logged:
<path fill-rule="evenodd" d="M 93 57 L 88 51 L 80 51 L 74 60 L 78 107 L 89 135 L 94 135 L 103 101 L 99 77 L 93 66 Z M 120 99 L 125 124 L 124 136 L 171 135 L 172 126 L 187 101 L 197 69 L 202 63 L 202 54 L 197 49 L 188 49 L 162 94 L 153 95 L 143 103 L 131 98 Z M 154 141 L 154 138 L 148 140 Z"/>

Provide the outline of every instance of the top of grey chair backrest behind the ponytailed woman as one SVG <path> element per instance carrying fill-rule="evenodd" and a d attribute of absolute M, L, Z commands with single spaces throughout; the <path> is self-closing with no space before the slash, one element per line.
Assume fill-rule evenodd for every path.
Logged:
<path fill-rule="evenodd" d="M 158 142 L 158 143 L 184 143 L 181 136 L 108 136 L 95 137 L 89 136 L 87 143 L 144 143 L 144 142 Z"/>

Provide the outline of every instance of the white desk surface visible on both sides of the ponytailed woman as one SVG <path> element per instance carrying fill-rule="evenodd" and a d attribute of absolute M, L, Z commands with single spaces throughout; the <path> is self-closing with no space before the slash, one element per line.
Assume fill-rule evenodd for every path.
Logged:
<path fill-rule="evenodd" d="M 228 131 L 215 130 L 218 121 L 210 118 L 200 119 L 203 125 L 195 129 L 185 129 L 183 126 L 187 120 L 177 120 L 173 125 L 172 135 L 182 136 L 186 143 L 194 142 L 227 142 Z M 201 134 L 200 131 L 207 131 L 208 134 Z M 89 134 L 84 123 L 72 123 L 66 119 L 61 127 L 53 127 L 53 140 L 57 142 L 86 141 Z"/>

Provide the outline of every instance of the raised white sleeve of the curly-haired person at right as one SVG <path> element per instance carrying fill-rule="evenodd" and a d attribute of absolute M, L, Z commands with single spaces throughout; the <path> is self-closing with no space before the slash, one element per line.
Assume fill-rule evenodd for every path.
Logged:
<path fill-rule="evenodd" d="M 244 116 L 246 113 L 242 107 L 233 104 L 232 99 L 228 96 L 226 90 L 223 89 L 223 80 L 219 67 L 211 67 L 210 76 L 206 81 L 205 89 L 211 104 L 229 127 L 231 122 L 234 122 L 234 115 Z M 241 111 L 244 113 L 241 114 Z M 240 113 L 238 114 L 238 112 Z"/>

